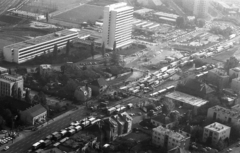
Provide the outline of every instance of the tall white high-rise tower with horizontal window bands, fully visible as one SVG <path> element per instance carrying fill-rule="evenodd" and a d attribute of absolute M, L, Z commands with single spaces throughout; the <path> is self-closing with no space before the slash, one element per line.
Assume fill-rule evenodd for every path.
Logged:
<path fill-rule="evenodd" d="M 127 3 L 116 3 L 104 8 L 103 42 L 105 47 L 113 49 L 132 43 L 133 7 Z"/>

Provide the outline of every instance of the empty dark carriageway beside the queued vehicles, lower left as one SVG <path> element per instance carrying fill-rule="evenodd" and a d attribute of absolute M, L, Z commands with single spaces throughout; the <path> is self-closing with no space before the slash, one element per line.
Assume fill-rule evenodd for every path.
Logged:
<path fill-rule="evenodd" d="M 13 145 L 10 146 L 10 149 L 7 151 L 4 151 L 5 153 L 26 153 L 28 149 L 32 146 L 33 143 L 45 138 L 47 135 L 59 131 L 63 128 L 66 128 L 69 126 L 70 122 L 76 121 L 76 120 L 81 120 L 87 115 L 86 109 L 84 107 L 79 108 L 76 110 L 74 113 L 63 117 L 41 129 L 38 131 L 35 131 L 32 133 L 30 136 L 27 136 L 23 138 L 22 140 L 14 143 Z M 3 152 L 3 151 L 1 151 Z"/>

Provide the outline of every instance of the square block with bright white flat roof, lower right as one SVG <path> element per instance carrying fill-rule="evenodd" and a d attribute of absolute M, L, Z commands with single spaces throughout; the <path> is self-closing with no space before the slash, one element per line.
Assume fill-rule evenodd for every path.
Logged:
<path fill-rule="evenodd" d="M 231 128 L 220 124 L 220 123 L 212 123 L 208 126 L 204 127 L 203 131 L 203 142 L 206 142 L 208 138 L 211 139 L 212 144 L 217 144 L 219 140 L 229 139 L 231 132 Z"/>

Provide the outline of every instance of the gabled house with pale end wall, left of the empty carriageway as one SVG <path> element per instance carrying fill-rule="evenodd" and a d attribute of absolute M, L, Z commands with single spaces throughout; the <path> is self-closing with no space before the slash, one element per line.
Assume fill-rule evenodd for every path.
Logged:
<path fill-rule="evenodd" d="M 30 125 L 41 124 L 46 121 L 46 117 L 47 110 L 41 104 L 20 111 L 21 120 Z"/>

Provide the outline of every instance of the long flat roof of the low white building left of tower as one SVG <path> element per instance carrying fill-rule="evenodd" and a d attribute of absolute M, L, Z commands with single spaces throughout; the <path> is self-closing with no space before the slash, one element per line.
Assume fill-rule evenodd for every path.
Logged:
<path fill-rule="evenodd" d="M 39 37 L 36 37 L 34 39 L 30 39 L 30 40 L 26 40 L 26 41 L 23 41 L 23 42 L 20 42 L 20 43 L 5 46 L 4 48 L 18 49 L 19 50 L 19 49 L 22 49 L 22 48 L 26 48 L 26 47 L 29 47 L 29 46 L 34 46 L 34 45 L 37 45 L 37 44 L 40 44 L 40 43 L 44 43 L 44 42 L 54 40 L 54 39 L 57 39 L 57 38 L 61 38 L 61 37 L 71 35 L 71 34 L 77 34 L 77 32 L 74 31 L 74 30 L 71 30 L 71 29 L 65 29 L 65 30 L 58 31 L 58 32 L 55 32 L 55 33 L 51 33 L 51 34 L 48 34 L 48 35 L 45 35 L 45 36 L 39 36 Z"/>

